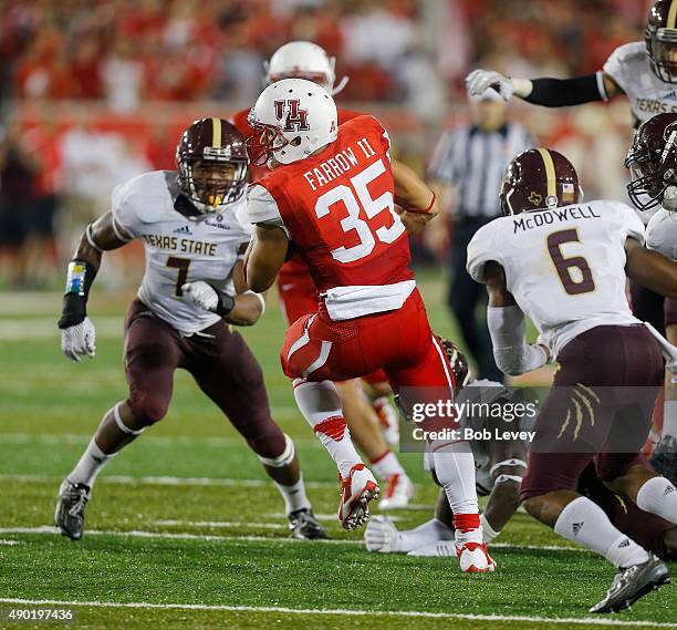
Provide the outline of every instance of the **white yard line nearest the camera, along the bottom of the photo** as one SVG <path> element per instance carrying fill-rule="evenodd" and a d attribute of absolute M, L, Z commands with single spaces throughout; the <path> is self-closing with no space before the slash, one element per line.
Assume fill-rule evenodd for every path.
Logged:
<path fill-rule="evenodd" d="M 576 623 L 591 626 L 619 626 L 646 628 L 677 628 L 677 623 L 664 623 L 658 621 L 625 621 L 610 619 L 608 617 L 529 617 L 525 614 L 464 614 L 462 612 L 425 612 L 423 610 L 355 610 L 344 608 L 312 608 L 296 609 L 281 606 L 227 606 L 207 603 L 155 603 L 150 601 L 64 601 L 59 599 L 18 599 L 3 597 L 0 603 L 19 606 L 85 606 L 93 608 L 142 608 L 159 610 L 223 610 L 232 612 L 282 612 L 284 614 L 337 614 L 350 617 L 404 617 L 404 618 L 428 618 L 428 619 L 468 619 L 472 621 L 527 621 L 532 623 Z"/>

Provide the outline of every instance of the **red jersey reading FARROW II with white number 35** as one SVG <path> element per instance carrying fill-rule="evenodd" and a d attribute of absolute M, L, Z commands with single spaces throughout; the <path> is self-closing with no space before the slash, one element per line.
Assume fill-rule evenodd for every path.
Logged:
<path fill-rule="evenodd" d="M 342 124 L 317 155 L 258 182 L 277 204 L 319 291 L 414 277 L 407 231 L 394 209 L 389 147 L 381 123 L 361 115 Z"/>

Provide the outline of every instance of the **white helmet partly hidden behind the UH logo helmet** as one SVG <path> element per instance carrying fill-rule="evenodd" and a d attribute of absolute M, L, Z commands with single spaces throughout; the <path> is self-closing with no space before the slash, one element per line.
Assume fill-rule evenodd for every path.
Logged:
<path fill-rule="evenodd" d="M 322 85 L 330 94 L 338 94 L 347 83 L 344 76 L 336 81 L 336 58 L 329 56 L 322 47 L 313 42 L 289 42 L 280 47 L 270 61 L 263 62 L 267 85 L 282 79 L 306 79 Z"/>

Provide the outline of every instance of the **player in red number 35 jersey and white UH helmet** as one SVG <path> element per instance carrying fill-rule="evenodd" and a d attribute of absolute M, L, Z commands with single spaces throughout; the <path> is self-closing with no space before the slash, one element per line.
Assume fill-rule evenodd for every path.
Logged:
<path fill-rule="evenodd" d="M 388 135 L 376 118 L 357 116 L 338 126 L 334 100 L 310 81 L 285 79 L 267 87 L 249 122 L 257 132 L 249 140 L 261 149 L 254 162 L 267 163 L 271 173 L 248 194 L 256 229 L 246 278 L 252 290 L 268 289 L 293 244 L 320 291 L 317 311 L 287 331 L 281 361 L 301 412 L 338 466 L 338 517 L 353 529 L 368 518 L 379 488 L 353 446 L 333 381 L 384 369 L 400 395 L 414 389 L 423 397 L 436 389 L 446 400 L 454 396 L 451 366 L 409 269 L 407 233 L 437 215 L 435 195 L 390 159 Z M 439 428 L 440 415 L 421 425 Z M 429 436 L 442 433 L 429 446 L 455 514 L 461 569 L 493 570 L 482 541 L 472 453 L 449 432 Z"/>

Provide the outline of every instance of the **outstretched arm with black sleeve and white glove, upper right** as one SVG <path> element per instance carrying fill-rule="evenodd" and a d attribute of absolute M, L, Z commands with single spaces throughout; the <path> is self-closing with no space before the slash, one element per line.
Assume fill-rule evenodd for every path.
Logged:
<path fill-rule="evenodd" d="M 582 105 L 625 94 L 612 76 L 602 71 L 572 79 L 518 79 L 493 70 L 473 70 L 466 76 L 466 87 L 471 96 L 493 89 L 506 101 L 514 94 L 528 103 L 545 107 Z"/>

